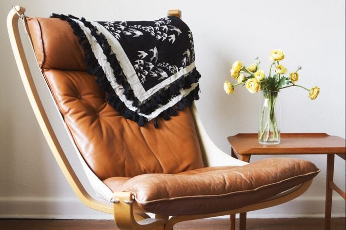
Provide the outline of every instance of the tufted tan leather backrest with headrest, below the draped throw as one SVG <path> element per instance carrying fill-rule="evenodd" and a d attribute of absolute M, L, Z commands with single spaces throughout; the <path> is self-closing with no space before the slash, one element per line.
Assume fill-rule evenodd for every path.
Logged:
<path fill-rule="evenodd" d="M 103 180 L 145 173 L 175 174 L 204 167 L 189 107 L 160 128 L 126 120 L 86 73 L 83 50 L 66 21 L 28 18 L 47 85 L 84 160 Z"/>

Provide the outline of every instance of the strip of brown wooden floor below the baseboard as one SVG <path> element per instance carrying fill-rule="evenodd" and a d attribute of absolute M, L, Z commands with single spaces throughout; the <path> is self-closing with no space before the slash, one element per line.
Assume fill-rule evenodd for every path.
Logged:
<path fill-rule="evenodd" d="M 248 219 L 248 230 L 322 230 L 323 218 L 299 219 Z M 238 228 L 238 226 L 237 226 Z M 46 220 L 46 219 L 0 219 L 1 230 L 114 230 L 118 229 L 112 220 Z M 192 220 L 176 224 L 174 230 L 179 229 L 229 229 L 228 219 Z M 333 218 L 332 230 L 344 230 L 345 218 Z"/>

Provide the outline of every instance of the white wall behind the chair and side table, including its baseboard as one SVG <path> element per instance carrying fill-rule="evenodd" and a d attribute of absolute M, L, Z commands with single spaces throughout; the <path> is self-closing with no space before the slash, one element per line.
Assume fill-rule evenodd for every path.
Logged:
<path fill-rule="evenodd" d="M 6 2 L 6 3 L 5 3 Z M 99 4 L 96 4 L 99 3 Z M 226 137 L 256 132 L 260 94 L 236 88 L 226 95 L 222 83 L 235 60 L 250 64 L 260 56 L 269 67 L 272 49 L 285 52 L 289 70 L 302 65 L 300 84 L 320 86 L 319 97 L 290 88 L 280 93 L 282 132 L 323 132 L 345 138 L 345 1 L 29 1 L 0 3 L 0 218 L 112 218 L 84 207 L 57 167 L 23 91 L 7 36 L 6 16 L 11 6 L 26 8 L 27 16 L 51 13 L 84 16 L 89 20 L 154 20 L 168 9 L 181 9 L 193 31 L 196 66 L 201 75 L 201 119 L 212 140 L 229 152 Z M 38 73 L 38 72 L 36 72 Z M 49 103 L 41 81 L 38 88 Z M 49 114 L 54 107 L 48 107 Z M 60 120 L 53 116 L 57 127 Z M 64 130 L 57 128 L 65 149 L 73 152 Z M 263 156 L 267 157 L 267 156 Z M 322 171 L 311 188 L 297 200 L 250 212 L 249 217 L 322 217 L 326 157 L 296 156 L 311 160 Z M 254 156 L 252 161 L 262 157 Z M 72 158 L 77 162 L 76 158 Z M 78 174 L 82 172 L 78 170 Z M 345 187 L 345 163 L 335 162 L 335 181 Z M 83 179 L 85 180 L 85 179 Z M 345 216 L 345 203 L 334 193 L 333 216 Z"/>

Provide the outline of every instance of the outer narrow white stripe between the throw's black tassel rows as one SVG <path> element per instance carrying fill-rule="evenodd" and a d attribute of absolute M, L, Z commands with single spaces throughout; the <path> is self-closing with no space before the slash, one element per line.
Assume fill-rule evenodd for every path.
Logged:
<path fill-rule="evenodd" d="M 79 24 L 79 26 L 81 27 L 81 29 L 84 31 L 84 34 L 86 36 L 86 38 L 88 39 L 91 48 L 94 52 L 94 55 L 97 59 L 97 61 L 99 62 L 100 66 L 102 67 L 102 70 L 104 71 L 107 80 L 110 82 L 110 85 L 112 86 L 112 88 L 114 89 L 114 91 L 116 92 L 116 94 L 119 96 L 120 100 L 122 102 L 125 103 L 126 107 L 134 112 L 137 111 L 138 108 L 132 106 L 133 101 L 127 100 L 127 98 L 124 95 L 124 88 L 119 85 L 116 81 L 116 78 L 114 76 L 114 72 L 113 69 L 110 67 L 110 63 L 107 61 L 107 57 L 104 55 L 103 50 L 101 48 L 101 46 L 97 43 L 96 38 L 94 36 L 91 35 L 91 30 L 86 27 L 83 22 L 77 20 L 77 19 L 72 19 L 75 22 L 77 22 Z M 100 25 L 101 26 L 101 25 Z M 113 37 L 113 36 L 112 36 Z M 109 42 L 109 41 L 108 41 Z M 125 54 L 126 55 L 126 54 Z M 130 64 L 131 65 L 131 64 Z M 191 64 L 192 65 L 192 64 Z M 189 65 L 188 67 L 190 67 L 191 65 Z M 132 67 L 132 65 L 131 65 Z M 193 63 L 193 68 L 194 68 L 194 63 Z M 193 69 L 192 68 L 192 69 Z M 133 67 L 132 67 L 133 69 Z M 187 69 L 187 68 L 185 68 Z M 184 70 L 185 70 L 184 69 Z M 178 72 L 179 73 L 179 72 Z M 187 72 L 188 73 L 188 72 Z M 125 73 L 124 73 L 125 74 Z M 175 79 L 174 79 L 175 80 Z M 162 83 L 162 82 L 161 82 Z M 153 118 L 157 117 L 158 115 L 160 115 L 160 113 L 162 113 L 163 111 L 165 111 L 166 109 L 174 106 L 175 104 L 177 104 L 180 100 L 182 100 L 183 97 L 185 97 L 186 95 L 188 95 L 192 90 L 194 90 L 196 87 L 198 86 L 198 83 L 192 83 L 191 87 L 188 89 L 180 89 L 180 94 L 174 98 L 172 98 L 167 104 L 159 107 L 157 110 L 153 111 L 151 114 L 147 115 L 147 114 L 142 114 L 142 113 L 138 113 L 139 115 L 146 117 L 149 121 L 152 120 Z"/>

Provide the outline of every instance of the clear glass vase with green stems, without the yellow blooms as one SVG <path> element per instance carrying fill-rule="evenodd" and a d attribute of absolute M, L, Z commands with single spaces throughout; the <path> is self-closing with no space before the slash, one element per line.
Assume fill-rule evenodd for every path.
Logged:
<path fill-rule="evenodd" d="M 280 143 L 279 91 L 262 91 L 258 120 L 258 143 L 277 145 Z"/>

